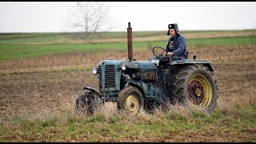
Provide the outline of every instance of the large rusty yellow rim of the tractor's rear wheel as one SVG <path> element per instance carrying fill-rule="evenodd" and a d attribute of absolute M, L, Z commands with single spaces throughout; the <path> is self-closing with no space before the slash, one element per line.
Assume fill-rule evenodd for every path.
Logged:
<path fill-rule="evenodd" d="M 210 105 L 212 88 L 210 82 L 203 75 L 196 75 L 191 78 L 188 86 L 190 102 L 197 110 L 204 110 Z"/>

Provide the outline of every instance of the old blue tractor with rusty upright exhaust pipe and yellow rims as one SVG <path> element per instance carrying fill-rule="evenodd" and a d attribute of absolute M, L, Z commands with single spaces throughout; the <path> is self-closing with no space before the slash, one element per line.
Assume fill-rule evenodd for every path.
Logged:
<path fill-rule="evenodd" d="M 94 114 L 94 110 L 105 102 L 117 102 L 118 110 L 129 114 L 150 111 L 154 107 L 166 110 L 169 104 L 181 104 L 207 114 L 213 112 L 218 92 L 210 62 L 196 60 L 196 56 L 163 62 L 166 50 L 158 46 L 153 48 L 152 58 L 136 61 L 133 59 L 130 22 L 127 42 L 129 60 L 103 60 L 94 66 L 99 89 L 84 87 L 86 91 L 75 100 L 76 111 Z"/>

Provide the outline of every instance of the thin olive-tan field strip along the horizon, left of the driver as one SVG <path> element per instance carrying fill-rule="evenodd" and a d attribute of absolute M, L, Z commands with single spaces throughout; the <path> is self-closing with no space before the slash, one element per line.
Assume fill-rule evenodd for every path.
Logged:
<path fill-rule="evenodd" d="M 136 31 L 133 38 L 152 37 L 165 34 L 163 31 Z M 106 39 L 106 38 L 126 38 L 126 32 L 98 32 L 91 34 L 86 40 Z M 21 34 L 0 34 L 1 44 L 24 44 L 34 42 L 62 42 L 70 40 L 85 40 L 82 33 L 21 33 Z"/>

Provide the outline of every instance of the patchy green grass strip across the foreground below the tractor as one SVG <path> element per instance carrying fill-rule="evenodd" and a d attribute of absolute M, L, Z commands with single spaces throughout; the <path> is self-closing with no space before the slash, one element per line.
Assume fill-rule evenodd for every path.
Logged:
<path fill-rule="evenodd" d="M 254 106 L 244 106 L 240 110 L 254 113 Z M 241 111 L 244 113 L 244 111 Z M 10 116 L 0 121 L 0 138 L 2 142 L 104 142 L 102 138 L 109 138 L 111 142 L 121 142 L 123 139 L 134 141 L 146 139 L 151 141 L 165 139 L 170 134 L 184 135 L 209 134 L 229 131 L 230 134 L 250 133 L 255 130 L 254 117 L 243 115 L 230 118 L 214 110 L 214 114 L 206 116 L 200 113 L 181 114 L 167 113 L 162 115 L 146 115 L 147 122 L 141 116 L 104 114 L 79 116 L 72 113 L 43 114 L 37 117 Z M 209 129 L 210 127 L 210 129 Z M 251 131 L 253 133 L 253 131 Z M 197 138 L 197 137 L 195 137 Z M 200 138 L 200 137 L 199 137 Z M 240 138 L 247 138 L 241 137 Z M 106 140 L 106 139 L 105 139 Z M 243 139 L 241 139 L 243 141 Z"/>

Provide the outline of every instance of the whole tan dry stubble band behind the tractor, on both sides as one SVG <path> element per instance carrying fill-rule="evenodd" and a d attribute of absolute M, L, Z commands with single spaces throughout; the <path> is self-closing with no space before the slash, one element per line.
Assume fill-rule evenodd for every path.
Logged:
<path fill-rule="evenodd" d="M 255 63 L 256 46 L 191 46 L 189 58 L 194 54 L 197 59 L 206 59 L 213 64 L 221 63 Z M 152 50 L 134 50 L 134 58 L 146 60 L 153 56 Z M 120 60 L 127 58 L 126 51 L 110 50 L 107 53 L 98 51 L 92 52 L 72 52 L 66 54 L 54 54 L 38 58 L 23 58 L 8 61 L 0 61 L 0 73 L 21 73 L 36 71 L 52 71 L 65 69 L 91 69 L 103 59 L 112 58 Z"/>

